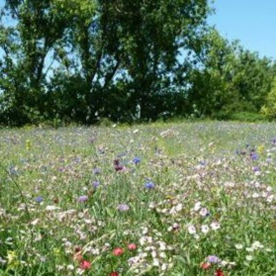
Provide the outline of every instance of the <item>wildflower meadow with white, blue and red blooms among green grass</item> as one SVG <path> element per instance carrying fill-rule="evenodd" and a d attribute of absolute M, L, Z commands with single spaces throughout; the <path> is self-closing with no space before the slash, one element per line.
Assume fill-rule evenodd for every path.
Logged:
<path fill-rule="evenodd" d="M 275 132 L 0 130 L 0 275 L 276 275 Z"/>

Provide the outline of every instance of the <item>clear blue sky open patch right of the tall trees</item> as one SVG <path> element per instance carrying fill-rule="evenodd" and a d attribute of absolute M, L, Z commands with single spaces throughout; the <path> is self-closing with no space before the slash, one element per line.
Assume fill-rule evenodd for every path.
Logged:
<path fill-rule="evenodd" d="M 276 0 L 215 0 L 209 23 L 228 39 L 276 59 Z"/>

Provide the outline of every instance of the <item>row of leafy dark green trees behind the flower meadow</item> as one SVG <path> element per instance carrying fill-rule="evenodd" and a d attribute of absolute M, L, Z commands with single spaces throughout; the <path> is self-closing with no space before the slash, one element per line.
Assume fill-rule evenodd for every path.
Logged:
<path fill-rule="evenodd" d="M 276 64 L 228 41 L 208 0 L 6 0 L 0 124 L 276 117 Z"/>

